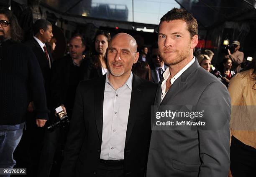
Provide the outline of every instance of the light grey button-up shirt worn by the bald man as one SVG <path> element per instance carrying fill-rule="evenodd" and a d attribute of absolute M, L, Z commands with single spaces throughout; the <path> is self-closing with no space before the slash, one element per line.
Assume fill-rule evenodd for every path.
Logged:
<path fill-rule="evenodd" d="M 125 84 L 117 90 L 106 75 L 103 126 L 100 158 L 103 160 L 123 160 L 125 137 L 131 102 L 132 80 L 131 73 Z"/>

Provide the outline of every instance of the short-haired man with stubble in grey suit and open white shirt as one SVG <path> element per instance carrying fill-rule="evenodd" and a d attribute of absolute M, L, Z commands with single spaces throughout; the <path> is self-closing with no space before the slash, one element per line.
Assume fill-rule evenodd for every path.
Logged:
<path fill-rule="evenodd" d="M 174 8 L 161 18 L 158 46 L 169 67 L 156 93 L 147 177 L 228 176 L 230 96 L 195 60 L 197 43 L 189 12 Z M 170 118 L 169 111 L 177 115 Z"/>

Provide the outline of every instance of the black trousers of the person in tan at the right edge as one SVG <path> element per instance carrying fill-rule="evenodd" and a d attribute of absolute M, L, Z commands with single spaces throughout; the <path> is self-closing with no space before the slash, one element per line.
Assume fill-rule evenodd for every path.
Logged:
<path fill-rule="evenodd" d="M 230 170 L 233 177 L 256 176 L 256 149 L 232 136 Z"/>

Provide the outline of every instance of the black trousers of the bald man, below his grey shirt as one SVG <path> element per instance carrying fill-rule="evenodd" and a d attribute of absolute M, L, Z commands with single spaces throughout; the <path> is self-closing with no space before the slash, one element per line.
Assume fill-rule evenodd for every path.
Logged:
<path fill-rule="evenodd" d="M 108 165 L 100 162 L 97 169 L 97 177 L 123 177 L 123 176 L 124 176 L 123 164 Z"/>

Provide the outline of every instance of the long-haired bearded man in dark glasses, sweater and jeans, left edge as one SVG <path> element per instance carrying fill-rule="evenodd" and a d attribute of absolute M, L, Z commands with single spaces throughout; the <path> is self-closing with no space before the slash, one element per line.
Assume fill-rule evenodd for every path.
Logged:
<path fill-rule="evenodd" d="M 39 64 L 21 40 L 17 18 L 9 9 L 0 8 L 0 168 L 4 169 L 16 164 L 13 152 L 23 134 L 30 99 L 36 106 L 36 119 L 48 119 Z"/>

